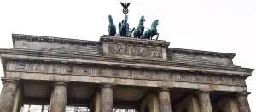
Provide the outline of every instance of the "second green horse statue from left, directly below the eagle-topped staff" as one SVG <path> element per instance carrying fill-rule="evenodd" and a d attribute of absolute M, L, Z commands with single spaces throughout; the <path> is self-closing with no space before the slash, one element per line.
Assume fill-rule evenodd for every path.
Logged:
<path fill-rule="evenodd" d="M 125 19 L 119 23 L 119 35 L 128 37 L 130 35 L 129 24 L 127 23 L 128 16 L 125 15 Z"/>

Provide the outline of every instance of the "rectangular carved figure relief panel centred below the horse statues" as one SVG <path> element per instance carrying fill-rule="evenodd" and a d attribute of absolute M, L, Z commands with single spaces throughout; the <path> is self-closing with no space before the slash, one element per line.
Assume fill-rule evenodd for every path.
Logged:
<path fill-rule="evenodd" d="M 109 54 L 163 58 L 162 48 L 154 46 L 134 46 L 129 44 L 108 44 Z"/>

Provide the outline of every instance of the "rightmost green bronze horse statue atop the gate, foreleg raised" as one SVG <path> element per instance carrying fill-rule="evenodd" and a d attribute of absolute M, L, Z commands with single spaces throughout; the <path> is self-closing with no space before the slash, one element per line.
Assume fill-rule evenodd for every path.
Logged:
<path fill-rule="evenodd" d="M 157 40 L 158 36 L 159 36 L 159 33 L 157 32 L 157 29 L 156 29 L 157 25 L 159 25 L 158 20 L 154 20 L 154 22 L 151 25 L 151 28 L 144 33 L 143 38 L 144 39 L 152 39 L 152 37 L 154 35 L 157 35 L 157 37 L 156 37 L 156 40 Z"/>

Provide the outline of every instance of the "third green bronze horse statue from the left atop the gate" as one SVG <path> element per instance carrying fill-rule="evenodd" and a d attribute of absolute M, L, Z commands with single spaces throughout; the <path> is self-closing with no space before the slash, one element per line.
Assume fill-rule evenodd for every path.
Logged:
<path fill-rule="evenodd" d="M 135 38 L 142 38 L 143 36 L 143 32 L 144 32 L 144 22 L 145 22 L 145 17 L 142 16 L 140 21 L 139 21 L 139 25 L 137 26 L 136 30 L 133 33 L 133 36 Z"/>

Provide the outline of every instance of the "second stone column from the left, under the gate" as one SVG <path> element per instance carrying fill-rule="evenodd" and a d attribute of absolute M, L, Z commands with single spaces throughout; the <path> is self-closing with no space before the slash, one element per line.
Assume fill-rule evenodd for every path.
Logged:
<path fill-rule="evenodd" d="M 67 105 L 67 84 L 56 82 L 51 92 L 49 112 L 65 112 Z"/>

